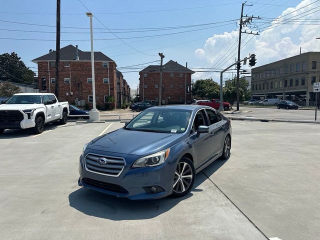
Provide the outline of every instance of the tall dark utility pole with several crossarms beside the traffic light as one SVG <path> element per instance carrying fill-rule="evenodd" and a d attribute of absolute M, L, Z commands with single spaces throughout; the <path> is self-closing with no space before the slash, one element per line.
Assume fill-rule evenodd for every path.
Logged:
<path fill-rule="evenodd" d="M 240 61 L 240 49 L 241 49 L 241 33 L 248 33 L 248 34 L 253 34 L 253 35 L 259 35 L 258 33 L 252 33 L 251 32 L 247 32 L 242 31 L 242 25 L 247 25 L 250 24 L 253 18 L 257 18 L 260 19 L 260 17 L 254 17 L 252 16 L 247 16 L 245 15 L 246 19 L 243 21 L 243 7 L 244 6 L 252 6 L 252 4 L 245 4 L 246 1 L 244 3 L 242 3 L 242 7 L 241 7 L 241 16 L 240 16 L 240 26 L 239 26 L 239 42 L 238 42 L 238 59 L 237 62 Z M 240 88 L 240 81 L 239 81 L 239 73 L 240 73 L 240 63 L 237 65 L 236 67 L 236 110 L 239 110 L 239 99 L 240 99 L 240 93 L 239 93 L 239 88 Z"/>

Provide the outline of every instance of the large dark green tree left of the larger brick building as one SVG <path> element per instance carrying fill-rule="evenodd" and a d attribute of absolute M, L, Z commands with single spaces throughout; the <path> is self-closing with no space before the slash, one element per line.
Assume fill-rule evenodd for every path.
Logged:
<path fill-rule="evenodd" d="M 0 76 L 12 82 L 34 82 L 34 72 L 20 59 L 15 52 L 0 54 Z"/>

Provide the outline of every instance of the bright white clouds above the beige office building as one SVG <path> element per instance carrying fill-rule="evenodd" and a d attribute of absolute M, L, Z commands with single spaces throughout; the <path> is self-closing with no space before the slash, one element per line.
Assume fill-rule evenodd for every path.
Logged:
<path fill-rule="evenodd" d="M 299 9 L 307 4 L 310 4 L 312 1 L 313 0 L 302 0 L 296 5 L 296 7 L 289 7 L 285 9 L 279 17 L 293 12 L 296 9 Z M 311 7 L 315 7 L 315 4 L 299 9 L 291 14 L 284 16 L 283 18 L 298 18 L 301 16 L 302 17 L 300 19 L 320 18 L 320 12 L 314 12 L 310 15 L 303 16 L 314 11 L 314 8 L 312 9 Z M 279 23 L 280 21 L 276 22 Z M 273 21 L 272 24 L 276 22 Z M 267 26 L 266 28 L 268 28 L 270 26 L 273 26 L 272 24 L 265 24 L 261 26 L 261 28 L 264 26 Z M 282 58 L 297 55 L 299 54 L 300 47 L 302 47 L 302 52 L 320 51 L 320 40 L 315 39 L 315 37 L 320 37 L 318 26 L 301 24 L 278 25 L 279 26 L 267 30 L 265 30 L 265 28 L 260 35 L 247 35 L 245 33 L 242 34 L 243 42 L 241 45 L 243 47 L 241 49 L 241 58 L 247 56 L 249 53 L 254 52 L 257 58 L 256 65 L 258 66 Z M 250 39 L 251 37 L 252 39 Z M 212 37 L 209 37 L 205 41 L 203 49 L 198 48 L 196 52 L 194 52 L 195 54 L 199 55 L 199 49 L 202 50 L 201 57 L 204 60 L 202 60 L 202 64 L 199 65 L 201 67 L 213 66 L 214 68 L 225 68 L 228 65 L 232 64 L 235 60 L 235 57 L 237 56 L 237 42 L 232 46 L 229 52 L 226 53 L 226 51 L 235 41 L 237 41 L 237 38 L 237 31 L 224 32 L 222 34 L 215 34 Z M 247 42 L 248 39 L 250 39 L 249 42 Z M 230 52 L 231 54 L 229 55 Z M 226 57 L 227 55 L 229 56 Z M 197 79 L 201 75 L 201 72 L 197 72 L 193 75 L 193 78 Z M 227 74 L 225 75 L 227 76 Z M 219 80 L 219 73 L 210 73 L 206 75 L 206 77 L 208 76 L 213 77 L 214 80 Z"/>

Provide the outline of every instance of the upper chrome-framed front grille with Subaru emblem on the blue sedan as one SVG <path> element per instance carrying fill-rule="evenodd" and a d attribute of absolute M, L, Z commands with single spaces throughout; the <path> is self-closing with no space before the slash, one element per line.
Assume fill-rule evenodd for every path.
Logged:
<path fill-rule="evenodd" d="M 106 163 L 99 163 L 101 161 Z M 107 176 L 119 176 L 126 163 L 122 157 L 88 153 L 84 158 L 84 165 L 85 169 L 90 172 Z"/>

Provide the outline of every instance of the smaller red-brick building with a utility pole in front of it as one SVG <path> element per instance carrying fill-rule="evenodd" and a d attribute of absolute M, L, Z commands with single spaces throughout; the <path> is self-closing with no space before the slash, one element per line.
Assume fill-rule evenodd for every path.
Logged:
<path fill-rule="evenodd" d="M 191 75 L 194 71 L 169 60 L 162 66 L 162 104 L 191 102 Z M 160 65 L 149 65 L 139 72 L 140 100 L 159 101 Z"/>

